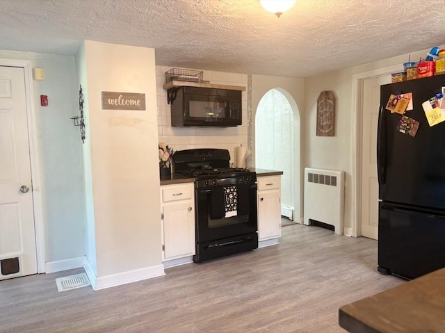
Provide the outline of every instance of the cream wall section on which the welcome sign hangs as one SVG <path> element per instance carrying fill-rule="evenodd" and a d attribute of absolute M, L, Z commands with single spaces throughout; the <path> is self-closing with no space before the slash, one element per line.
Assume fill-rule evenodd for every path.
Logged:
<path fill-rule="evenodd" d="M 100 289 L 163 267 L 156 74 L 154 49 L 87 40 L 85 56 Z M 146 110 L 102 110 L 102 91 L 143 93 Z"/>

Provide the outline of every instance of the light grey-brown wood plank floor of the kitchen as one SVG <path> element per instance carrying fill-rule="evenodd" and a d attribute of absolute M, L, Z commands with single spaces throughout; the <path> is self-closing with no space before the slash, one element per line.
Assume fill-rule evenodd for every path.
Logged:
<path fill-rule="evenodd" d="M 376 268 L 377 241 L 291 225 L 279 245 L 102 291 L 58 293 L 82 269 L 0 282 L 0 332 L 345 332 L 339 307 L 405 282 Z"/>

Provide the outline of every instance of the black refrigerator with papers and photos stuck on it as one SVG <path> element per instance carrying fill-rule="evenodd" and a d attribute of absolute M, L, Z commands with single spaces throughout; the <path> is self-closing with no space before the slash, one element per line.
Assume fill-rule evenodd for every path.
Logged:
<path fill-rule="evenodd" d="M 430 127 L 422 106 L 442 87 L 445 75 L 380 87 L 378 271 L 383 274 L 414 279 L 445 267 L 445 122 Z M 403 115 L 386 109 L 391 95 L 409 92 L 412 110 L 403 115 L 419 122 L 415 136 L 401 132 Z"/>

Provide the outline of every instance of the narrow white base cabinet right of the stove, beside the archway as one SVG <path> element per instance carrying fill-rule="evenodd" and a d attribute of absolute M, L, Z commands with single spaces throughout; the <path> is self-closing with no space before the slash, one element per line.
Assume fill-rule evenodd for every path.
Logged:
<path fill-rule="evenodd" d="M 281 237 L 281 177 L 257 177 L 259 247 L 278 243 Z M 261 243 L 262 242 L 262 243 Z"/>

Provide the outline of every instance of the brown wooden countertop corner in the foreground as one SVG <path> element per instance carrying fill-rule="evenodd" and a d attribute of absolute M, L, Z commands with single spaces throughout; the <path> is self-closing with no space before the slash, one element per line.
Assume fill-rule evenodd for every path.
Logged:
<path fill-rule="evenodd" d="M 445 268 L 339 309 L 348 332 L 445 332 Z"/>

